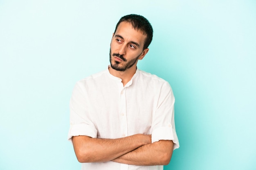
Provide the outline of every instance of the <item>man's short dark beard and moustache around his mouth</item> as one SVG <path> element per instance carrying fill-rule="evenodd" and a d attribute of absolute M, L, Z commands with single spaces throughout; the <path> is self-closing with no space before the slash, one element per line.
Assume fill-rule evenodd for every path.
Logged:
<path fill-rule="evenodd" d="M 117 70 L 117 71 L 121 71 L 121 72 L 124 72 L 126 71 L 127 69 L 131 68 L 133 65 L 135 65 L 135 63 L 138 61 L 139 57 L 140 57 L 141 54 L 139 54 L 136 58 L 130 60 L 130 61 L 127 61 L 123 55 L 120 55 L 120 54 L 117 54 L 117 53 L 111 53 L 111 49 L 110 49 L 110 52 L 109 52 L 109 61 L 110 61 L 110 66 L 112 69 L 114 70 Z M 126 62 L 124 63 L 124 65 L 121 65 L 119 61 L 115 61 L 115 60 L 111 60 L 112 57 L 119 57 L 121 60 L 123 60 L 122 62 Z"/>

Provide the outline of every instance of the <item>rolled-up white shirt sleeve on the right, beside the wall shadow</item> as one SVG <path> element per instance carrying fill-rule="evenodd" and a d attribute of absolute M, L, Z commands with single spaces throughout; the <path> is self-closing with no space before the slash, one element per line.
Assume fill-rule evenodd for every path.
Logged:
<path fill-rule="evenodd" d="M 174 102 L 171 86 L 166 82 L 160 89 L 157 110 L 152 124 L 152 143 L 159 140 L 172 140 L 174 148 L 179 148 L 179 140 L 175 130 Z"/>

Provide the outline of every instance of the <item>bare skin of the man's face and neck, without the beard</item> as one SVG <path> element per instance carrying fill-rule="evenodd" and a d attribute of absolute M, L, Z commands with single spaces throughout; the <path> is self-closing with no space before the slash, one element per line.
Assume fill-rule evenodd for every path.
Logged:
<path fill-rule="evenodd" d="M 138 60 L 142 60 L 148 53 L 148 48 L 143 49 L 145 39 L 146 35 L 132 28 L 132 25 L 128 22 L 121 22 L 116 33 L 112 36 L 110 44 L 111 65 L 119 62 L 119 67 L 125 67 L 130 61 L 135 60 L 135 63 L 125 71 L 109 68 L 110 74 L 121 78 L 124 86 L 135 74 Z M 120 57 L 113 56 L 113 54 L 123 55 L 125 61 Z"/>

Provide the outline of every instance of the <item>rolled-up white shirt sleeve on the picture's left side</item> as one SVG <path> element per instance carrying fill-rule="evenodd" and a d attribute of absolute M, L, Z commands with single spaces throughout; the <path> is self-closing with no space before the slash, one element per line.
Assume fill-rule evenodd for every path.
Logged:
<path fill-rule="evenodd" d="M 68 140 L 72 142 L 73 136 L 85 135 L 97 137 L 97 129 L 90 119 L 90 113 L 86 104 L 84 87 L 76 83 L 70 99 L 70 130 Z"/>

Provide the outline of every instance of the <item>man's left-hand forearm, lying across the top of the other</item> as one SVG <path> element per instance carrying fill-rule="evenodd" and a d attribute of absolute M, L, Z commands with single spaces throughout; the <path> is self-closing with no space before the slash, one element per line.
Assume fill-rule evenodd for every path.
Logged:
<path fill-rule="evenodd" d="M 137 134 L 119 139 L 74 136 L 72 142 L 79 162 L 105 162 L 151 142 L 151 135 Z"/>

